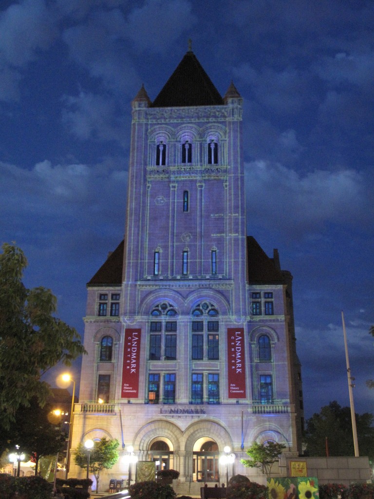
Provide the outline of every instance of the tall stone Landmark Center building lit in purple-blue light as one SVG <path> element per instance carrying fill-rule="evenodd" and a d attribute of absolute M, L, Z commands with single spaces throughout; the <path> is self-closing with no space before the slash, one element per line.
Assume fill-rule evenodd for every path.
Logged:
<path fill-rule="evenodd" d="M 300 450 L 292 276 L 246 235 L 241 128 L 239 92 L 222 98 L 190 50 L 133 100 L 125 238 L 87 284 L 72 454 L 117 438 L 193 486 L 225 481 L 225 446 L 230 475 L 254 473 L 253 441 Z"/>

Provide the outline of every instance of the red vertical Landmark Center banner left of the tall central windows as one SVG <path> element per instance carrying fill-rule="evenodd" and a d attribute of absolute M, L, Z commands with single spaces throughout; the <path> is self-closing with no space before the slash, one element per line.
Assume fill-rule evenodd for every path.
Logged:
<path fill-rule="evenodd" d="M 123 349 L 122 398 L 136 399 L 139 396 L 141 329 L 126 329 Z"/>

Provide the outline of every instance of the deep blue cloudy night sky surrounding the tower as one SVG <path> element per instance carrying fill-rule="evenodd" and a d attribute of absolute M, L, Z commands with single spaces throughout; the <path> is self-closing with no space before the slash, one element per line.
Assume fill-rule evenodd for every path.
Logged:
<path fill-rule="evenodd" d="M 83 334 L 85 283 L 124 234 L 131 100 L 191 38 L 244 99 L 247 234 L 294 276 L 306 417 L 349 405 L 341 310 L 374 412 L 373 26 L 371 0 L 1 0 L 0 242 L 26 285 Z"/>

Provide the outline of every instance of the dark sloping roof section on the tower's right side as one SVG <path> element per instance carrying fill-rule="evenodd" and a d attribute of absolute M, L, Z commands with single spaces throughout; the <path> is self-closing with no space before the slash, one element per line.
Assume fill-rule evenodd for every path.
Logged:
<path fill-rule="evenodd" d="M 247 236 L 248 283 L 280 284 L 285 281 L 273 258 L 265 253 L 252 236 Z"/>

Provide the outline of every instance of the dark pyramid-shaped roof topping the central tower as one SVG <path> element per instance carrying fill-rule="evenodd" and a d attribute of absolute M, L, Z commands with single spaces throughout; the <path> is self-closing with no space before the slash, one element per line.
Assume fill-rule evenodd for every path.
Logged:
<path fill-rule="evenodd" d="M 217 106 L 222 97 L 191 50 L 154 100 L 152 107 Z"/>

